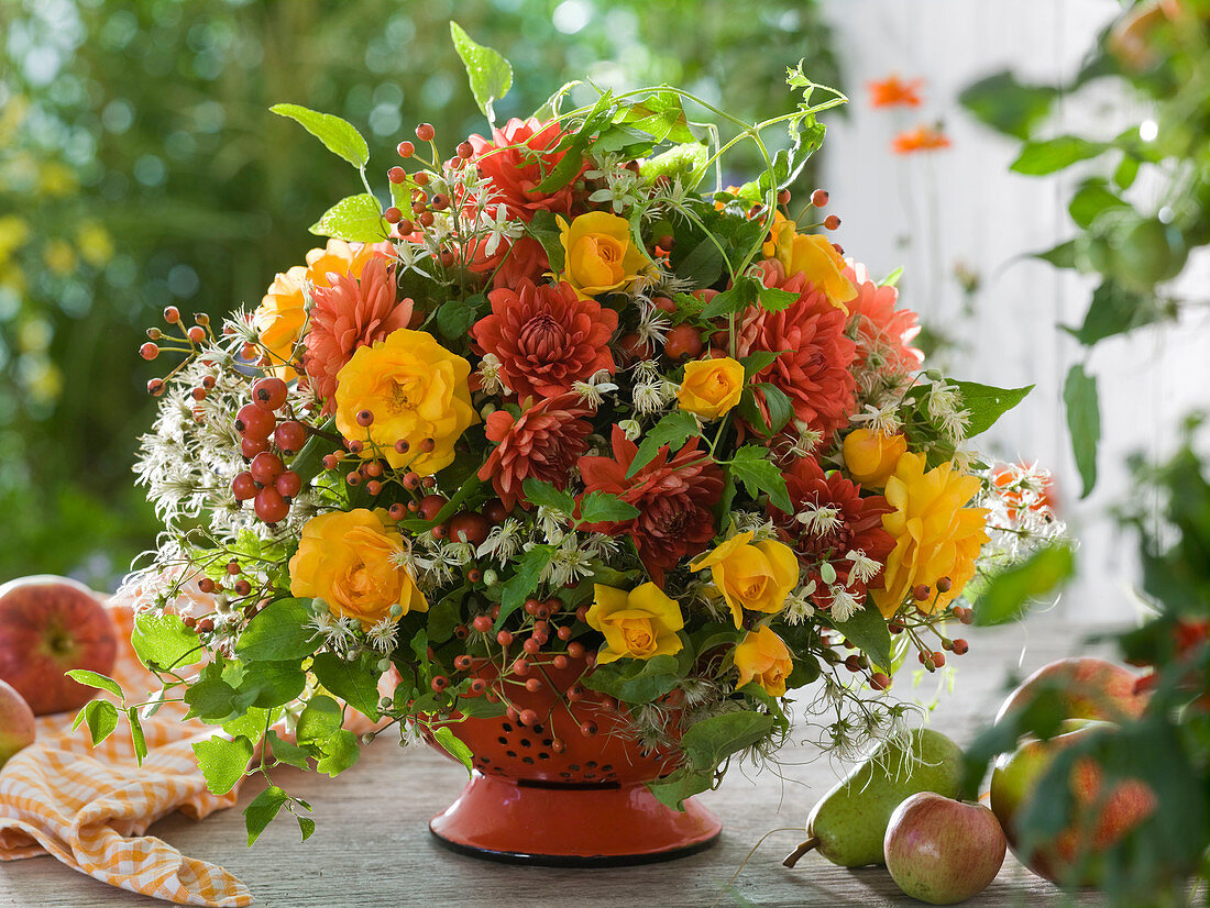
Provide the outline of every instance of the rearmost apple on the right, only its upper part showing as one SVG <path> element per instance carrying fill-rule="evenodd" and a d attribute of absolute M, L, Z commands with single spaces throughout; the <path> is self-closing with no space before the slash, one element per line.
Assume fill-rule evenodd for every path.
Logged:
<path fill-rule="evenodd" d="M 1136 719 L 1147 706 L 1145 695 L 1135 694 L 1135 675 L 1105 659 L 1073 658 L 1043 665 L 1008 695 L 996 722 L 1025 709 L 1039 690 L 1059 690 L 1062 718 L 1124 722 Z"/>

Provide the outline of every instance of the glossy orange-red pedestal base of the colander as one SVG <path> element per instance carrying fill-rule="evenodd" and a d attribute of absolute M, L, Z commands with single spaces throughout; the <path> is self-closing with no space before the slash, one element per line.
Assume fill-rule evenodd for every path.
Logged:
<path fill-rule="evenodd" d="M 668 861 L 709 848 L 722 823 L 690 799 L 684 812 L 645 785 L 518 782 L 476 771 L 428 825 L 461 854 L 548 867 Z"/>

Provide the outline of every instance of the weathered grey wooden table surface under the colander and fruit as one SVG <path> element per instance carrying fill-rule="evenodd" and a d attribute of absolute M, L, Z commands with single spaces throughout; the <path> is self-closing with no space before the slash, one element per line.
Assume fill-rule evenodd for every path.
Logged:
<path fill-rule="evenodd" d="M 1047 620 L 1007 629 L 968 629 L 972 654 L 958 664 L 952 693 L 940 692 L 932 725 L 960 744 L 987 722 L 1010 676 L 1051 659 L 1089 652 L 1085 631 Z M 897 684 L 903 698 L 934 698 L 935 679 L 915 692 Z M 240 877 L 258 906 L 918 906 L 895 887 L 883 868 L 848 871 L 818 855 L 796 869 L 782 857 L 802 838 L 807 810 L 837 777 L 830 760 L 809 747 L 782 751 L 790 781 L 773 774 L 728 774 L 722 787 L 702 800 L 724 822 L 711 849 L 668 863 L 575 871 L 517 867 L 455 855 L 437 845 L 427 821 L 443 810 L 466 781 L 466 773 L 427 748 L 399 750 L 387 740 L 367 748 L 361 762 L 338 779 L 282 769 L 290 793 L 311 802 L 318 828 L 299 842 L 293 822 L 275 822 L 257 845 L 244 848 L 242 808 L 260 791 L 249 785 L 240 806 L 196 822 L 174 814 L 151 834 L 184 854 L 218 862 Z M 813 759 L 814 758 L 814 759 Z M 286 777 L 286 773 L 290 776 Z M 756 840 L 778 827 L 799 827 L 768 837 L 728 889 Z M 1099 904 L 1093 893 L 1066 901 L 1047 881 L 1013 857 L 998 879 L 968 906 Z M 0 906 L 85 908 L 165 904 L 106 886 L 52 857 L 0 866 Z"/>

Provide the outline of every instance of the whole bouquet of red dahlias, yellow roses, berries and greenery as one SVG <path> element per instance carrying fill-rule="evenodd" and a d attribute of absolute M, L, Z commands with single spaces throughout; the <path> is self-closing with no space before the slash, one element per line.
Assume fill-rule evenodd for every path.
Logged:
<path fill-rule="evenodd" d="M 453 31 L 491 120 L 511 70 Z M 421 125 L 385 209 L 351 125 L 273 108 L 365 191 L 253 311 L 169 308 L 142 349 L 183 358 L 149 383 L 137 472 L 167 528 L 128 580 L 133 642 L 221 725 L 196 747 L 214 791 L 335 775 L 390 725 L 469 769 L 459 723 L 543 721 L 513 692 L 551 663 L 584 670 L 563 706 L 594 692 L 644 750 L 692 745 L 652 782 L 679 805 L 773 759 L 795 700 L 823 746 L 894 734 L 894 672 L 967 652 L 963 592 L 1058 526 L 1039 472 L 967 445 L 1028 388 L 924 369 L 894 282 L 820 232 L 828 193 L 794 209 L 845 98 L 801 64 L 788 85 L 756 125 L 667 86 L 560 112 L 567 86 L 449 157 Z M 726 189 L 741 141 L 767 169 Z M 282 806 L 310 833 L 271 786 L 249 844 Z"/>

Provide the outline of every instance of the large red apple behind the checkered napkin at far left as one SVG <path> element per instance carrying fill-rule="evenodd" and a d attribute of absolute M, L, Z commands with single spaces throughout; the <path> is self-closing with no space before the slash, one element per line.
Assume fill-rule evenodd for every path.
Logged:
<path fill-rule="evenodd" d="M 117 631 L 92 590 L 64 577 L 22 577 L 0 586 L 0 681 L 19 693 L 35 716 L 74 710 L 94 696 L 64 672 L 109 675 Z"/>

